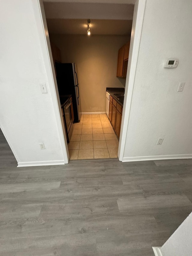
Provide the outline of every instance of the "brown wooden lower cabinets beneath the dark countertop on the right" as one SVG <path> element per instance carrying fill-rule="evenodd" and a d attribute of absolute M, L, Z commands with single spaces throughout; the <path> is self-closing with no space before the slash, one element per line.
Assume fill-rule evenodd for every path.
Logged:
<path fill-rule="evenodd" d="M 109 120 L 116 132 L 117 137 L 119 138 L 122 120 L 122 106 L 115 99 L 113 99 L 111 95 L 109 103 Z"/>

